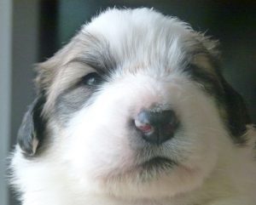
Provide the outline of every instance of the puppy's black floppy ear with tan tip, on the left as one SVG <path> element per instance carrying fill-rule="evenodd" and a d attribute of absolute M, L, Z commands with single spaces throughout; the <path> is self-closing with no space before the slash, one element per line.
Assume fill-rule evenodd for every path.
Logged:
<path fill-rule="evenodd" d="M 32 105 L 29 105 L 23 117 L 18 132 L 18 144 L 26 156 L 34 156 L 44 140 L 46 125 L 46 120 L 42 116 L 44 103 L 44 95 L 39 95 Z"/>

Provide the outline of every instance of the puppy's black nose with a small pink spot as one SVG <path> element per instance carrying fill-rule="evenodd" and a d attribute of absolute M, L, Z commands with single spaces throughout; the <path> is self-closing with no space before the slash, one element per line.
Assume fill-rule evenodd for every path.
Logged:
<path fill-rule="evenodd" d="M 143 139 L 151 144 L 160 145 L 170 140 L 177 128 L 177 117 L 174 111 L 141 111 L 135 126 Z"/>

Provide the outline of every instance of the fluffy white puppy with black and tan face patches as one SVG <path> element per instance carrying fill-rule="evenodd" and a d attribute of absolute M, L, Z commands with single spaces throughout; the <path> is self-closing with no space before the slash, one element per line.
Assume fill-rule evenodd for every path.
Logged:
<path fill-rule="evenodd" d="M 11 161 L 23 205 L 255 205 L 255 131 L 217 43 L 108 9 L 38 65 Z"/>

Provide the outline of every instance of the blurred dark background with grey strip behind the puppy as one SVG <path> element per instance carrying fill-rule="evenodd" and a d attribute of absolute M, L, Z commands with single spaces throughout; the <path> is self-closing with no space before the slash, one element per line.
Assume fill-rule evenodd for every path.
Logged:
<path fill-rule="evenodd" d="M 0 0 L 0 204 L 19 204 L 7 188 L 4 159 L 34 98 L 33 64 L 65 45 L 92 15 L 113 6 L 154 7 L 218 39 L 224 76 L 256 122 L 256 1 Z"/>

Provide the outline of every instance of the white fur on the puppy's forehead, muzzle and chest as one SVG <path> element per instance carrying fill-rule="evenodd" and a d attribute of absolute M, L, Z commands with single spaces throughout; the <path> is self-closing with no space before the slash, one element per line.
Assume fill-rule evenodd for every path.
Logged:
<path fill-rule="evenodd" d="M 253 128 L 247 145 L 234 145 L 213 99 L 178 69 L 181 40 L 195 35 L 190 30 L 152 9 L 109 9 L 84 26 L 81 33 L 108 40 L 126 70 L 113 73 L 67 128 L 50 122 L 54 142 L 43 156 L 30 161 L 16 147 L 12 183 L 23 193 L 23 205 L 256 204 Z M 137 158 L 125 122 L 154 104 L 171 106 L 183 129 Z M 180 164 L 142 183 L 136 166 L 153 156 Z"/>

